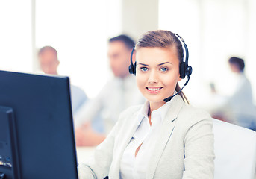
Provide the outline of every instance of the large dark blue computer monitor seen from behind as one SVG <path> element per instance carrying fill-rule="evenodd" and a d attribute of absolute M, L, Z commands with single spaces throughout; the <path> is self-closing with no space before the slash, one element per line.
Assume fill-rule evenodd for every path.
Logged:
<path fill-rule="evenodd" d="M 0 71 L 0 178 L 78 178 L 69 78 Z"/>

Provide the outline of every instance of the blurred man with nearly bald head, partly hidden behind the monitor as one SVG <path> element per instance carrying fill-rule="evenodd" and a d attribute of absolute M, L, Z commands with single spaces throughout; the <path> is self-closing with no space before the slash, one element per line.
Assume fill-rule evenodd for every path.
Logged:
<path fill-rule="evenodd" d="M 57 51 L 51 46 L 44 46 L 38 52 L 38 59 L 40 62 L 40 69 L 49 75 L 57 75 L 57 67 L 60 61 L 57 59 Z M 72 113 L 75 114 L 79 107 L 87 101 L 87 95 L 81 88 L 70 85 L 72 98 Z"/>

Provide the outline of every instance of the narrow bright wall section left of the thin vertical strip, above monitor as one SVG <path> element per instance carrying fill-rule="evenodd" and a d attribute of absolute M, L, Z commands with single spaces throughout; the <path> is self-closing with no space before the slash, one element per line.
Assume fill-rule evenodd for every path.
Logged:
<path fill-rule="evenodd" d="M 0 69 L 31 72 L 31 1 L 0 1 Z"/>

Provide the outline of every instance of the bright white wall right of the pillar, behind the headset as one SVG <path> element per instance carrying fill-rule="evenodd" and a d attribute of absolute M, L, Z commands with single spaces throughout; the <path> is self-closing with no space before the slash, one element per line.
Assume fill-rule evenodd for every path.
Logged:
<path fill-rule="evenodd" d="M 159 28 L 175 31 L 190 51 L 193 75 L 184 91 L 193 103 L 205 100 L 210 82 L 222 94 L 232 89 L 228 58 L 238 56 L 246 62 L 254 91 L 256 81 L 252 63 L 255 57 L 255 1 L 253 0 L 159 0 Z M 230 82 L 230 83 L 229 83 Z M 256 93 L 255 99 L 256 99 Z M 209 101 L 210 102 L 210 101 Z"/>

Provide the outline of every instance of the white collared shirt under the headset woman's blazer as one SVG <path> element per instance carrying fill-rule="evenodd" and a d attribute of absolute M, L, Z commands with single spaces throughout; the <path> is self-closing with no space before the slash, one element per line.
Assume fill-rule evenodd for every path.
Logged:
<path fill-rule="evenodd" d="M 137 116 L 137 131 L 134 133 L 134 136 L 131 138 L 131 141 L 125 148 L 125 151 L 122 155 L 120 162 L 120 178 L 146 178 L 147 163 L 149 163 L 149 160 L 153 155 L 154 146 L 157 142 L 157 134 L 160 130 L 160 125 L 162 125 L 163 119 L 169 110 L 171 102 L 172 101 L 169 101 L 159 109 L 152 112 L 152 126 L 149 124 L 148 117 L 149 101 L 143 105 L 140 113 Z M 140 145 L 140 150 L 135 157 L 135 152 Z"/>

